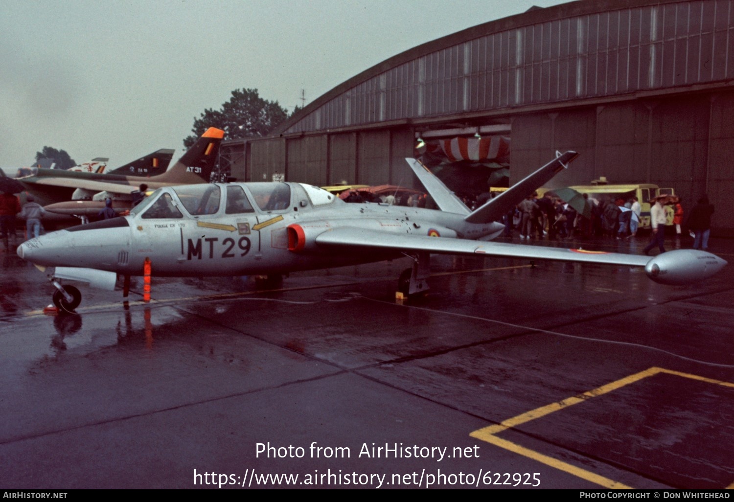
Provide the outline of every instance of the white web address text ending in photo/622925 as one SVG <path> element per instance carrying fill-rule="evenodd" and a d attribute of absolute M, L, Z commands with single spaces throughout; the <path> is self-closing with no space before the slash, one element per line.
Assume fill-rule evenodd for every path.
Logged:
<path fill-rule="evenodd" d="M 236 474 L 217 474 L 214 472 L 197 473 L 194 469 L 194 485 L 211 485 L 222 488 L 261 487 L 261 486 L 368 486 L 382 487 L 417 487 L 432 488 L 445 486 L 487 487 L 503 485 L 510 487 L 539 487 L 540 473 L 493 473 L 479 469 L 478 473 L 446 473 L 440 469 L 426 472 L 426 469 L 404 474 L 357 473 L 343 472 L 341 469 L 314 469 L 306 474 L 273 474 L 261 473 L 255 469 L 245 469 L 239 476 Z"/>

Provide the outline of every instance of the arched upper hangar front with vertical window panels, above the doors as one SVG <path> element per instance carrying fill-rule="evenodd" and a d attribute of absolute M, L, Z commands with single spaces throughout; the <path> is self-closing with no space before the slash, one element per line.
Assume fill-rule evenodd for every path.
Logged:
<path fill-rule="evenodd" d="M 529 10 L 368 68 L 277 133 L 487 117 L 726 81 L 734 77 L 733 10 L 725 0 L 583 0 Z"/>

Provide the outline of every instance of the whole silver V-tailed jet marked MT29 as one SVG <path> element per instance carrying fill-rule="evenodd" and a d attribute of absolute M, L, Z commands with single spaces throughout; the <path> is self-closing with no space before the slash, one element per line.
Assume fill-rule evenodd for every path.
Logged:
<path fill-rule="evenodd" d="M 79 289 L 59 279 L 115 288 L 117 274 L 168 277 L 282 274 L 407 255 L 413 268 L 399 291 L 427 291 L 431 253 L 608 263 L 644 267 L 658 283 L 685 284 L 711 277 L 727 263 L 697 250 L 655 258 L 522 244 L 493 243 L 496 222 L 528 193 L 567 167 L 569 151 L 486 204 L 470 211 L 423 164 L 406 159 L 440 210 L 382 203 L 344 203 L 305 183 L 207 183 L 164 187 L 129 216 L 79 225 L 26 241 L 18 255 L 55 266 L 54 303 L 74 310 Z M 126 281 L 128 283 L 128 281 Z"/>

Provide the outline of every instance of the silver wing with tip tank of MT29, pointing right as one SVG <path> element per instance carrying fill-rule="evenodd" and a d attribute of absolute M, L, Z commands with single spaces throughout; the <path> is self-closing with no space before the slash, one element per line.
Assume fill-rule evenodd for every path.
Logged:
<path fill-rule="evenodd" d="M 625 255 L 619 252 L 413 236 L 353 227 L 335 228 L 321 233 L 316 236 L 316 244 L 319 247 L 360 248 L 362 250 L 421 251 L 450 255 L 503 256 L 531 260 L 637 266 L 644 267 L 647 276 L 655 282 L 672 285 L 688 284 L 712 277 L 727 264 L 722 258 L 710 252 L 698 250 L 674 250 L 650 258 L 642 255 Z"/>

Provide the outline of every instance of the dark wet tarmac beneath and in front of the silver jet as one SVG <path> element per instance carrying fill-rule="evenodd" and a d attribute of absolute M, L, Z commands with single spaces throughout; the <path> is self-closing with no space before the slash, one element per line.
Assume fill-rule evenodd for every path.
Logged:
<path fill-rule="evenodd" d="M 74 315 L 2 253 L 0 485 L 733 487 L 734 241 L 711 251 L 730 265 L 686 287 L 435 256 L 410 302 L 406 259 L 154 277 L 150 303 L 81 285 Z"/>

